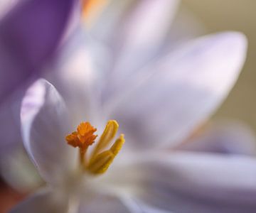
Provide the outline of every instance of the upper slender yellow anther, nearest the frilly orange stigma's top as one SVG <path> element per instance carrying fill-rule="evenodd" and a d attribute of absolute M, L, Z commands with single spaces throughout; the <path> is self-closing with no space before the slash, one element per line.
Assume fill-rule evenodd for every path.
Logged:
<path fill-rule="evenodd" d="M 105 130 L 103 131 L 102 136 L 100 136 L 100 141 L 97 143 L 95 150 L 92 152 L 92 158 L 94 158 L 97 153 L 100 153 L 110 144 L 118 131 L 118 127 L 119 125 L 117 124 L 117 121 L 110 120 L 107 122 Z"/>

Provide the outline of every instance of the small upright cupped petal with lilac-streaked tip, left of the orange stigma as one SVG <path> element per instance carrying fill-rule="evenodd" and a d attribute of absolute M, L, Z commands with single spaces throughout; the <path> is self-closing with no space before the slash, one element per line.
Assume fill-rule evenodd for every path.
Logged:
<path fill-rule="evenodd" d="M 65 142 L 69 124 L 68 111 L 53 85 L 38 80 L 28 88 L 21 104 L 24 146 L 48 182 L 61 182 L 74 163 L 75 149 Z"/>

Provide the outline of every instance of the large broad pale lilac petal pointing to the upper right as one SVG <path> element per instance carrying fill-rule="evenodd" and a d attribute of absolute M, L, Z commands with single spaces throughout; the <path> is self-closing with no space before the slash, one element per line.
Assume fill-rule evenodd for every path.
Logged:
<path fill-rule="evenodd" d="M 193 40 L 140 76 L 122 81 L 119 99 L 109 103 L 114 112 L 110 117 L 119 121 L 127 141 L 137 148 L 180 143 L 223 102 L 245 55 L 241 33 Z"/>

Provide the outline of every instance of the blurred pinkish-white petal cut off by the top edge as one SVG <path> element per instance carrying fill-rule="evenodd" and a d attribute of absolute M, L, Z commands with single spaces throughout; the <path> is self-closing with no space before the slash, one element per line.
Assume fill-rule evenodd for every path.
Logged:
<path fill-rule="evenodd" d="M 159 48 L 171 26 L 177 5 L 176 0 L 138 1 L 122 23 L 122 31 L 117 31 L 124 55 L 131 57 L 136 53 L 143 57 L 142 53 L 146 55 Z M 133 59 L 136 59 L 134 55 Z"/>

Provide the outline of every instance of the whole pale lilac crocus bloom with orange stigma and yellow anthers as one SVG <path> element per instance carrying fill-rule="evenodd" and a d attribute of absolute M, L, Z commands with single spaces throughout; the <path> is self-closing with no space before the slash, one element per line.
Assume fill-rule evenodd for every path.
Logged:
<path fill-rule="evenodd" d="M 23 98 L 21 129 L 47 186 L 13 212 L 254 212 L 254 158 L 172 149 L 223 101 L 245 53 L 244 35 L 218 33 L 126 73 L 125 81 L 122 72 L 105 84 L 95 70 L 76 83 L 69 75 L 71 94 L 80 92 L 73 99 L 69 84 L 59 82 L 61 97 L 36 81 Z M 124 136 L 112 143 L 117 122 Z"/>

